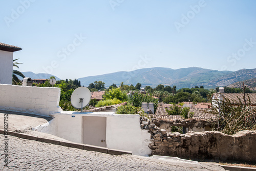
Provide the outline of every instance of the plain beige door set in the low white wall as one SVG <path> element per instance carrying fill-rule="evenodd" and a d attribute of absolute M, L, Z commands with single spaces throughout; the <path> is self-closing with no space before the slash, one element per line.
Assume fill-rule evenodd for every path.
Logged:
<path fill-rule="evenodd" d="M 106 147 L 106 117 L 83 116 L 83 143 Z"/>

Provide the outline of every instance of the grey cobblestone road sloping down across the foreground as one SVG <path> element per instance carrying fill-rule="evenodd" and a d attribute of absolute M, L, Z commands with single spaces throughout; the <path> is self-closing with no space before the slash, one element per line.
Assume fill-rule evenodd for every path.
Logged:
<path fill-rule="evenodd" d="M 4 166 L 4 135 L 0 135 L 0 170 L 224 170 L 206 164 L 180 164 L 133 155 L 67 148 L 8 136 L 9 164 Z"/>

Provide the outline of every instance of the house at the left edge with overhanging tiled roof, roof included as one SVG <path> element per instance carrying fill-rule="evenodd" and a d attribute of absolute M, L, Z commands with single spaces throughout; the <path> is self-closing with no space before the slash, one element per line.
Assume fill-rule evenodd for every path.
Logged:
<path fill-rule="evenodd" d="M 13 52 L 22 48 L 0 42 L 0 84 L 12 84 Z"/>

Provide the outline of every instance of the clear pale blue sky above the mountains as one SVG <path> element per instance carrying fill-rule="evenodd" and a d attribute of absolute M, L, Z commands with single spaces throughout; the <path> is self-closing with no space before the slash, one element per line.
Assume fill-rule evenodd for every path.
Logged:
<path fill-rule="evenodd" d="M 1 1 L 20 71 L 74 79 L 149 67 L 256 68 L 256 1 Z"/>

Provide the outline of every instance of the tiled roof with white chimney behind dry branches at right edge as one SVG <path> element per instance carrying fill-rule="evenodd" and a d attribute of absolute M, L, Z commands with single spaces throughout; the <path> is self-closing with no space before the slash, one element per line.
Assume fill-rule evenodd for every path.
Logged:
<path fill-rule="evenodd" d="M 225 101 L 225 99 L 230 100 L 230 102 L 236 106 L 239 104 L 239 100 L 243 103 L 244 101 L 244 93 L 225 93 L 224 88 L 220 87 L 218 93 L 214 93 L 211 96 L 211 100 L 219 100 Z M 249 99 L 251 102 L 251 106 L 256 106 L 256 93 L 245 93 L 246 104 L 249 103 Z"/>

